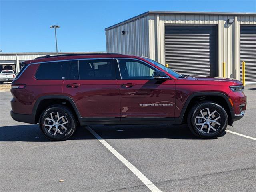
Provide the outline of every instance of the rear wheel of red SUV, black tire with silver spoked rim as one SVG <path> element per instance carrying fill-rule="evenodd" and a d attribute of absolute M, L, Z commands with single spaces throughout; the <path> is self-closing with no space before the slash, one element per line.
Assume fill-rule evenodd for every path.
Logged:
<path fill-rule="evenodd" d="M 58 115 L 59 117 L 64 117 L 58 120 Z M 52 117 L 55 122 L 53 120 L 48 120 L 52 119 Z M 56 120 L 58 120 L 58 122 Z M 46 123 L 50 126 L 46 126 Z M 58 125 L 56 125 L 56 123 L 58 123 Z M 58 126 L 58 130 L 56 129 L 56 126 Z M 66 128 L 66 130 L 63 126 Z M 46 108 L 46 110 L 42 112 L 39 119 L 39 127 L 44 136 L 49 140 L 64 141 L 70 138 L 70 136 L 72 136 L 72 134 L 75 132 L 76 119 L 74 114 L 66 106 L 53 105 Z"/>

